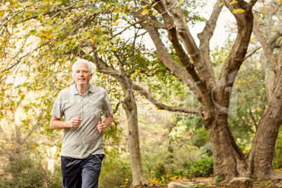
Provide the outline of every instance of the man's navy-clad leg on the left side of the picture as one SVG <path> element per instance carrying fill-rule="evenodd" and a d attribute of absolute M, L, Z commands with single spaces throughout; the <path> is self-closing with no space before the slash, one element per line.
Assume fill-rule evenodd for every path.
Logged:
<path fill-rule="evenodd" d="M 83 159 L 61 156 L 62 187 L 81 188 L 81 163 Z"/>

